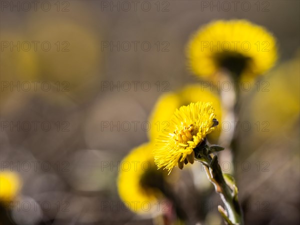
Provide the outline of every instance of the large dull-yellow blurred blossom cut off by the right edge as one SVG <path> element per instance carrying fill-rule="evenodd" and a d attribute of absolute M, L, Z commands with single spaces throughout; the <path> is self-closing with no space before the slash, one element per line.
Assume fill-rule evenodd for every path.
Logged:
<path fill-rule="evenodd" d="M 296 57 L 282 63 L 256 81 L 257 91 L 248 102 L 256 139 L 285 132 L 299 121 L 299 60 Z"/>

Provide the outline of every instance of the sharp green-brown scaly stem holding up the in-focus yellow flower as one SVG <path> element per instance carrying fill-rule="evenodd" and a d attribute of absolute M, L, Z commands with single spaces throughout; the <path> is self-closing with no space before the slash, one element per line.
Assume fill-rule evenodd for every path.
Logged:
<path fill-rule="evenodd" d="M 218 211 L 228 224 L 242 225 L 242 210 L 238 203 L 234 179 L 230 175 L 222 173 L 217 156 L 210 153 L 211 149 L 208 145 L 197 147 L 195 152 L 195 159 L 204 165 L 209 181 L 214 185 L 215 191 L 219 193 L 224 202 L 225 209 L 219 205 Z"/>

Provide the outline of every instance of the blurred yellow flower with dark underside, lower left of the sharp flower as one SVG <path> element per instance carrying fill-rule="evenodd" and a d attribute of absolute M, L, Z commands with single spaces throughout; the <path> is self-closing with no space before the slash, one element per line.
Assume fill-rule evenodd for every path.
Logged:
<path fill-rule="evenodd" d="M 117 179 L 118 193 L 124 205 L 136 213 L 151 212 L 163 195 L 166 171 L 157 170 L 152 155 L 153 144 L 148 142 L 133 148 L 120 165 Z"/>

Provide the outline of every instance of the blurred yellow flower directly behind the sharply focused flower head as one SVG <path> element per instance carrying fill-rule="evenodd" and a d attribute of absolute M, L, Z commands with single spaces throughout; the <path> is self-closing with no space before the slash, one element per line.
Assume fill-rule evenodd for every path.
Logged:
<path fill-rule="evenodd" d="M 221 120 L 221 104 L 219 97 L 208 89 L 203 88 L 200 84 L 186 85 L 176 92 L 168 92 L 163 94 L 157 100 L 149 121 L 151 129 L 149 130 L 150 140 L 155 140 L 161 131 L 168 129 L 169 120 L 176 108 L 181 105 L 187 105 L 190 102 L 207 101 L 212 102 L 215 109 L 216 119 Z M 209 134 L 208 139 L 216 141 L 220 130 Z"/>

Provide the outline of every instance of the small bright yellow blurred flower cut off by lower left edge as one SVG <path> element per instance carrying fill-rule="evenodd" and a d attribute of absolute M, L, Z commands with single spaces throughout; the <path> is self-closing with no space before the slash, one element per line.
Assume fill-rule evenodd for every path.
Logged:
<path fill-rule="evenodd" d="M 11 171 L 0 172 L 0 200 L 10 201 L 20 188 L 19 177 Z"/>

